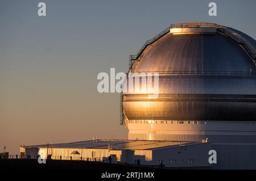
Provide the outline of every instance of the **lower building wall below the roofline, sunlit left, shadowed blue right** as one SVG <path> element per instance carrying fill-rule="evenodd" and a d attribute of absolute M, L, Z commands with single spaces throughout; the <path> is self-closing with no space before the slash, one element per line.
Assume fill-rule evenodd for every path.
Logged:
<path fill-rule="evenodd" d="M 210 165 L 209 150 L 216 150 L 217 163 Z M 47 148 L 20 148 L 24 156 L 35 158 L 38 150 L 42 159 L 47 157 Z M 72 155 L 72 151 L 79 151 L 79 155 Z M 136 164 L 140 160 L 142 165 L 159 165 L 166 167 L 205 167 L 210 169 L 256 169 L 256 144 L 245 143 L 192 143 L 187 145 L 166 146 L 151 150 L 108 150 L 108 149 L 79 149 L 79 148 L 49 148 L 48 154 L 52 159 L 71 159 L 108 162 L 109 155 L 116 155 L 113 162 Z M 27 157 L 26 157 L 27 158 Z"/>

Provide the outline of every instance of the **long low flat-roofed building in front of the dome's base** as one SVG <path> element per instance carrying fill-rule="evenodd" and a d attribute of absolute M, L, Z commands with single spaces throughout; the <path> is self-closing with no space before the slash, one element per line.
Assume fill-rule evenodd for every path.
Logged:
<path fill-rule="evenodd" d="M 88 140 L 65 144 L 23 146 L 24 158 L 62 159 L 127 163 L 159 167 L 210 169 L 208 142 L 146 141 L 146 140 Z M 168 160 L 168 162 L 167 162 Z"/>

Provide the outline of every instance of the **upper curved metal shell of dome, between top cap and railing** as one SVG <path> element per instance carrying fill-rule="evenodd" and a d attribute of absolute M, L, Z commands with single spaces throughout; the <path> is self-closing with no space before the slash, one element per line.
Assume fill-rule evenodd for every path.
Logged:
<path fill-rule="evenodd" d="M 134 72 L 250 71 L 251 57 L 236 42 L 216 34 L 172 35 L 142 54 Z"/>

